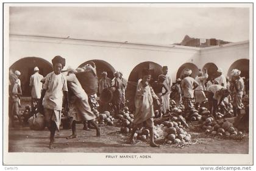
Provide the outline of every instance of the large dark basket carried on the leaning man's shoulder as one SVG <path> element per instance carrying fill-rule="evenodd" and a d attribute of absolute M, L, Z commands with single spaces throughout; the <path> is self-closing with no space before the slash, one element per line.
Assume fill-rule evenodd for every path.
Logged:
<path fill-rule="evenodd" d="M 76 77 L 88 96 L 98 92 L 98 77 L 92 70 L 77 72 Z"/>

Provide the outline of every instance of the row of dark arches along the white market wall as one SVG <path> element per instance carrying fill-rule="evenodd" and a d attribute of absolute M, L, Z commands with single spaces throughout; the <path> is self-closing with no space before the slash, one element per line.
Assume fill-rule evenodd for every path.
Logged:
<path fill-rule="evenodd" d="M 104 60 L 89 60 L 82 63 L 79 67 L 86 65 L 90 61 L 93 61 L 96 65 L 96 71 L 99 79 L 101 78 L 101 72 L 107 71 L 108 77 L 110 79 L 113 79 L 113 73 L 115 72 L 115 68 L 113 68 L 112 65 L 107 63 Z M 49 72 L 52 71 L 52 64 L 49 63 L 49 61 L 44 60 L 43 58 L 38 57 L 26 57 L 22 58 L 15 63 L 13 63 L 12 66 L 10 66 L 10 69 L 12 71 L 19 70 L 21 71 L 21 87 L 23 88 L 23 94 L 24 96 L 30 96 L 30 89 L 29 87 L 29 79 L 30 75 L 34 73 L 34 67 L 38 66 L 40 69 L 40 74 L 43 76 L 46 76 Z M 131 83 L 137 83 L 138 79 L 141 78 L 142 69 L 148 68 L 151 71 L 152 79 L 157 80 L 158 75 L 162 74 L 162 66 L 154 63 L 152 61 L 145 61 L 143 63 L 138 64 L 135 66 L 135 68 L 132 69 L 130 72 L 128 81 Z M 183 71 L 186 68 L 190 68 L 193 71 L 192 77 L 196 77 L 196 75 L 199 72 L 199 68 L 197 68 L 196 65 L 193 63 L 184 63 L 177 71 L 176 79 L 182 77 Z M 206 68 L 208 71 L 209 78 L 215 79 L 218 77 L 218 67 L 214 63 L 207 63 L 204 65 L 202 69 Z M 230 71 L 232 69 L 239 69 L 241 71 L 241 76 L 249 78 L 249 60 L 248 59 L 240 59 L 235 61 L 229 68 L 228 76 L 230 74 Z"/>

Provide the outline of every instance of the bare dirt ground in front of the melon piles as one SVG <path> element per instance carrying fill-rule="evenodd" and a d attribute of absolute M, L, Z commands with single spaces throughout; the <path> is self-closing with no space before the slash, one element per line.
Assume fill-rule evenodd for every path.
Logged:
<path fill-rule="evenodd" d="M 246 154 L 249 139 L 208 138 L 204 133 L 191 130 L 192 142 L 187 147 L 177 148 L 174 145 L 161 145 L 160 148 L 149 147 L 148 142 L 138 141 L 135 145 L 126 144 L 128 135 L 119 133 L 119 127 L 102 126 L 100 138 L 96 131 L 82 130 L 77 124 L 76 139 L 66 139 L 71 130 L 60 130 L 56 133 L 54 149 L 48 148 L 49 131 L 33 131 L 29 127 L 9 129 L 9 152 L 76 152 L 76 153 L 230 153 Z"/>

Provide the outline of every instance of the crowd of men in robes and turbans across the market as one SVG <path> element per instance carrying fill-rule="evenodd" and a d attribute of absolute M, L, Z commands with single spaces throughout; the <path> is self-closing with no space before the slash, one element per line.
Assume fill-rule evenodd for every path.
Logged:
<path fill-rule="evenodd" d="M 98 94 L 104 94 L 105 90 L 111 91 L 112 101 L 108 103 L 98 103 L 96 94 L 88 95 L 82 88 L 76 77 L 77 69 L 68 68 L 66 72 L 62 69 L 65 66 L 65 58 L 56 56 L 52 59 L 53 72 L 43 77 L 39 74 L 39 69 L 34 68 L 34 74 L 30 77 L 29 86 L 31 89 L 32 112 L 44 114 L 46 126 L 50 131 L 49 148 L 53 148 L 54 134 L 60 130 L 62 111 L 73 118 L 72 134 L 67 139 L 76 138 L 76 124 L 84 122 L 92 125 L 96 129 L 96 136 L 101 135 L 98 125 L 94 122 L 96 118 L 93 113 L 94 108 L 99 106 L 100 111 L 112 108 L 115 116 L 126 105 L 127 80 L 123 78 L 122 72 L 116 71 L 114 79 L 107 77 L 107 72 L 102 72 L 99 80 Z M 89 69 L 96 72 L 94 63 L 87 65 Z M 86 68 L 86 67 L 85 67 Z M 65 73 L 65 74 L 64 74 Z M 153 108 L 157 106 L 160 117 L 170 111 L 170 99 L 176 105 L 184 105 L 185 110 L 197 108 L 197 106 L 208 103 L 208 107 L 213 116 L 216 117 L 218 108 L 222 106 L 223 112 L 232 104 L 233 116 L 241 116 L 243 108 L 242 99 L 244 96 L 244 80 L 240 77 L 241 71 L 233 69 L 230 78 L 226 78 L 222 69 L 218 69 L 219 76 L 215 79 L 209 78 L 207 69 L 199 71 L 196 78 L 191 77 L 192 70 L 185 69 L 182 78 L 176 80 L 172 85 L 172 80 L 168 74 L 168 67 L 163 66 L 161 75 L 158 75 L 156 82 L 151 82 L 151 74 L 145 69 L 143 77 L 138 80 L 137 92 L 135 95 L 135 125 L 144 123 L 152 131 L 155 117 Z M 9 77 L 9 118 L 10 124 L 14 126 L 13 117 L 19 115 L 20 97 L 22 96 L 20 71 L 10 72 Z M 96 73 L 95 73 L 96 75 Z M 156 99 L 157 103 L 152 103 Z M 109 104 L 111 103 L 111 106 Z M 141 110 L 143 109 L 143 110 Z M 153 123 L 152 123 L 153 122 Z M 135 127 L 137 128 L 137 127 Z M 154 137 L 154 136 L 152 136 Z M 133 142 L 133 139 L 130 140 Z M 154 139 L 151 139 L 151 146 L 157 147 Z"/>

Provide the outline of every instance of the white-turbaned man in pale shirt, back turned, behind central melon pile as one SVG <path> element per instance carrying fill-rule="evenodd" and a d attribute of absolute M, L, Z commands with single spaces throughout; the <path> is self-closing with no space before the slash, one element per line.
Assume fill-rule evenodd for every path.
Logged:
<path fill-rule="evenodd" d="M 180 87 L 183 91 L 183 103 L 185 110 L 191 110 L 191 108 L 194 108 L 192 99 L 194 98 L 194 89 L 198 86 L 198 83 L 191 77 L 191 74 L 191 69 L 185 69 L 184 79 L 180 83 Z"/>

